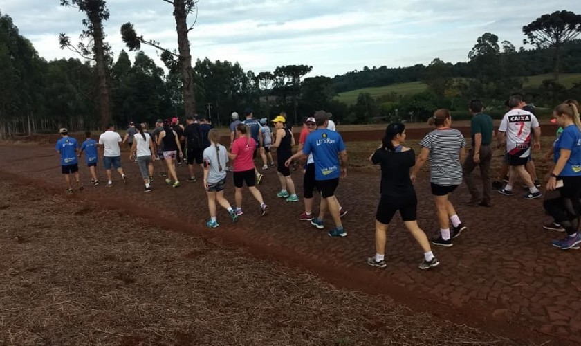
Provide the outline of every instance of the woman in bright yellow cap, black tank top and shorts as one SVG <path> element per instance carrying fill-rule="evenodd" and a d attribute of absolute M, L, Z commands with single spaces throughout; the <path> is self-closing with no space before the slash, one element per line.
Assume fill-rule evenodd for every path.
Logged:
<path fill-rule="evenodd" d="M 287 202 L 297 202 L 299 201 L 299 197 L 295 192 L 295 183 L 293 183 L 291 170 L 284 165 L 285 161 L 293 156 L 295 138 L 293 137 L 291 130 L 284 127 L 285 122 L 286 119 L 283 116 L 277 116 L 273 120 L 277 131 L 275 143 L 270 145 L 271 148 L 277 149 L 277 175 L 281 185 L 281 190 L 277 193 L 277 197 L 286 198 Z"/>

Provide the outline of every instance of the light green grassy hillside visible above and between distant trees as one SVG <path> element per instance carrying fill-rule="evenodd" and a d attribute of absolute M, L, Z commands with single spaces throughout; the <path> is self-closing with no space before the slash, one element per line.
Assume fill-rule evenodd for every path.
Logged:
<path fill-rule="evenodd" d="M 547 80 L 552 77 L 552 74 L 532 75 L 526 78 L 524 86 L 538 86 L 542 83 L 543 80 Z M 567 88 L 571 88 L 571 86 L 573 86 L 573 82 L 581 82 L 581 73 L 562 73 L 562 75 L 560 75 L 559 82 Z M 344 102 L 345 104 L 351 105 L 357 102 L 357 97 L 360 93 L 370 93 L 371 97 L 377 98 L 378 96 L 387 95 L 392 92 L 398 93 L 400 95 L 410 95 L 414 93 L 421 93 L 426 89 L 427 85 L 423 84 L 422 82 L 409 82 L 345 91 L 344 93 L 339 93 L 336 99 Z"/>

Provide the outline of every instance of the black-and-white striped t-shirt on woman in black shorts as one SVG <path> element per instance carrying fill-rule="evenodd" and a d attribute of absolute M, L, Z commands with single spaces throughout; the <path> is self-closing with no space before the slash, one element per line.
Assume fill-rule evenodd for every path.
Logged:
<path fill-rule="evenodd" d="M 440 186 L 462 183 L 460 149 L 466 146 L 466 140 L 460 131 L 435 129 L 425 135 L 420 145 L 430 149 L 430 183 Z"/>

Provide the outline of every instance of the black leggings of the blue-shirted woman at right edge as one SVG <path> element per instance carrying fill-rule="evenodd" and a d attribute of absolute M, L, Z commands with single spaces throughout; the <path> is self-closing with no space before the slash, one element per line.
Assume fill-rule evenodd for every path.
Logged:
<path fill-rule="evenodd" d="M 581 176 L 560 176 L 563 187 L 546 194 L 544 209 L 561 224 L 568 235 L 579 230 L 581 221 Z"/>

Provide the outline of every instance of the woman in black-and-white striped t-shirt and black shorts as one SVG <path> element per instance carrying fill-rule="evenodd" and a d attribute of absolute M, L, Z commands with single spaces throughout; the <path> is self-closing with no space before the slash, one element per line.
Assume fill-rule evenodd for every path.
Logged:
<path fill-rule="evenodd" d="M 418 171 L 430 158 L 430 185 L 436 201 L 441 234 L 432 239 L 432 244 L 450 247 L 453 245 L 452 238 L 458 237 L 466 229 L 448 199 L 448 195 L 462 183 L 460 162 L 465 157 L 466 140 L 460 131 L 450 128 L 452 117 L 448 109 L 438 109 L 427 123 L 434 125 L 436 129 L 421 140 L 422 150 L 412 169 L 411 177 L 414 181 Z"/>

